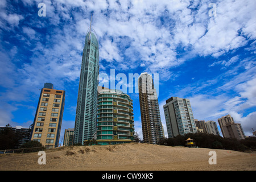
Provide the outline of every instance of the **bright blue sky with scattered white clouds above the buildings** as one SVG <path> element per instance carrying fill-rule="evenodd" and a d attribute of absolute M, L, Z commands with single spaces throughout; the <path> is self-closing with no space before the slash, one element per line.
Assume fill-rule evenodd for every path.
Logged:
<path fill-rule="evenodd" d="M 38 15 L 41 2 L 45 17 Z M 66 91 L 61 137 L 74 127 L 82 49 L 93 14 L 100 73 L 159 74 L 166 137 L 163 105 L 172 96 L 189 98 L 199 120 L 217 122 L 231 114 L 252 135 L 255 9 L 255 0 L 1 0 L 0 126 L 30 126 L 40 89 L 51 82 Z M 129 95 L 142 137 L 139 97 L 135 90 Z"/>

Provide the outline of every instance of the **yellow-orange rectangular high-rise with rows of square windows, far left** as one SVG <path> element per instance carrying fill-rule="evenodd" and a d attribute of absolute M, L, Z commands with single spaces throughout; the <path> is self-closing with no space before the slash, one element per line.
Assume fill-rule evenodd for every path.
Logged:
<path fill-rule="evenodd" d="M 46 83 L 41 89 L 30 140 L 37 140 L 46 148 L 59 146 L 65 103 L 65 91 L 53 89 Z"/>

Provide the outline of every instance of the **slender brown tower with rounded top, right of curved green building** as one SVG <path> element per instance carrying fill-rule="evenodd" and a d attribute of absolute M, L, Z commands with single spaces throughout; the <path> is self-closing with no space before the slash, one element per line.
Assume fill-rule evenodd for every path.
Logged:
<path fill-rule="evenodd" d="M 156 144 L 164 138 L 164 132 L 152 76 L 142 73 L 138 78 L 138 89 L 143 140 Z"/>

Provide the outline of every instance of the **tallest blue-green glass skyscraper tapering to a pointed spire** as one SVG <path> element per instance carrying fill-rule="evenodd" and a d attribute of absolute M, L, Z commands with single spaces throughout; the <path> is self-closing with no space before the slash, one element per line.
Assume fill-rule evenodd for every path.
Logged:
<path fill-rule="evenodd" d="M 90 26 L 82 52 L 74 143 L 83 144 L 84 140 L 92 139 L 96 131 L 98 61 L 98 40 L 95 31 Z"/>

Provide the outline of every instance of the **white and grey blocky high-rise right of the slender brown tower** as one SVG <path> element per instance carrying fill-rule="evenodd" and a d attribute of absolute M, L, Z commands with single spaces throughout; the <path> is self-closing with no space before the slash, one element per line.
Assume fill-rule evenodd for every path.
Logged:
<path fill-rule="evenodd" d="M 171 97 L 163 108 L 169 138 L 187 133 L 197 133 L 189 99 Z"/>

